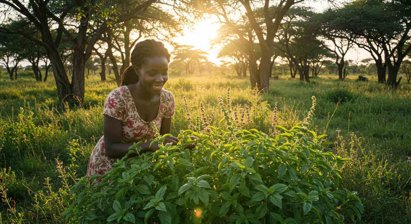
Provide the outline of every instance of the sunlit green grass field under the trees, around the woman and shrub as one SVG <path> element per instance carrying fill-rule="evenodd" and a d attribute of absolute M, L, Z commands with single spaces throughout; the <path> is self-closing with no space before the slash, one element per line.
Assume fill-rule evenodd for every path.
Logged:
<path fill-rule="evenodd" d="M 375 77 L 369 77 L 369 82 L 348 78 L 340 82 L 336 76 L 322 75 L 302 83 L 280 76 L 270 81 L 268 93 L 257 95 L 248 79 L 171 74 L 164 87 L 173 92 L 177 104 L 171 134 L 188 126 L 183 96 L 194 118 L 203 103 L 205 113 L 215 111 L 213 121 L 218 122 L 222 113 L 217 97 L 231 87 L 233 104 L 251 108 L 250 127 L 268 133 L 275 102 L 279 125 L 292 127 L 307 115 L 314 95 L 317 105 L 312 129 L 328 134 L 327 140 L 335 142 L 328 150 L 351 159 L 340 168 L 341 184 L 357 191 L 363 200 L 365 211 L 356 223 L 411 223 L 411 163 L 407 162 L 411 157 L 411 85 L 404 82 L 391 90 L 376 83 Z M 12 201 L 3 201 L 0 223 L 21 220 L 19 215 L 28 220 L 25 223 L 64 222 L 62 211 L 68 205 L 61 196 L 67 192 L 55 159 L 66 168 L 67 185 L 85 175 L 90 153 L 103 134 L 104 101 L 116 87 L 112 76 L 105 83 L 90 76 L 85 81 L 84 104 L 63 112 L 52 77 L 36 83 L 29 77 L 10 81 L 3 74 L 0 193 L 15 201 L 16 211 Z M 239 113 L 241 110 L 238 108 Z"/>

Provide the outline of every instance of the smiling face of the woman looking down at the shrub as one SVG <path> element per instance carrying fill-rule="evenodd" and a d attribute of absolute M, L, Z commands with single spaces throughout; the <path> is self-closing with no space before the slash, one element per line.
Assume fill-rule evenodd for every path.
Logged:
<path fill-rule="evenodd" d="M 138 71 L 139 70 L 139 71 Z M 159 95 L 169 79 L 169 62 L 166 57 L 146 58 L 140 69 L 139 85 L 152 95 Z"/>

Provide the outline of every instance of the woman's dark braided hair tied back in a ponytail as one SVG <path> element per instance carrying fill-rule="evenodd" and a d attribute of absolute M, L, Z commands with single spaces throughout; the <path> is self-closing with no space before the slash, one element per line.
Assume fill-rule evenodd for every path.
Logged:
<path fill-rule="evenodd" d="M 146 39 L 138 42 L 131 53 L 131 66 L 127 67 L 121 75 L 121 84 L 130 85 L 139 81 L 139 76 L 134 68 L 141 68 L 144 60 L 153 57 L 166 57 L 170 62 L 170 54 L 164 44 L 153 39 Z"/>

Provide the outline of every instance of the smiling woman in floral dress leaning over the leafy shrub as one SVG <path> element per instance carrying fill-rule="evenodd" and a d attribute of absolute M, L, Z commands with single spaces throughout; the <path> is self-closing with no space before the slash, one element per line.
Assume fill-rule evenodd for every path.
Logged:
<path fill-rule="evenodd" d="M 175 102 L 171 92 L 163 89 L 169 79 L 169 62 L 170 54 L 162 42 L 148 39 L 136 44 L 132 65 L 122 74 L 121 87 L 111 91 L 104 104 L 104 135 L 91 153 L 88 177 L 110 171 L 133 142 L 144 142 L 140 144 L 141 153 L 157 150 L 157 145 L 149 147 L 155 134 L 151 123 L 161 135 L 170 133 Z M 170 136 L 164 144 L 177 142 Z"/>

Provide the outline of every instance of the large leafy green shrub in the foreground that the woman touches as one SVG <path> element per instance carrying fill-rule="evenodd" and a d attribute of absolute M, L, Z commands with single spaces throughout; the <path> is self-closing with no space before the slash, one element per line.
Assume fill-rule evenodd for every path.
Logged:
<path fill-rule="evenodd" d="M 181 131 L 178 145 L 162 145 L 138 157 L 134 143 L 103 176 L 79 179 L 65 211 L 82 223 L 342 223 L 361 217 L 357 192 L 339 189 L 338 166 L 348 159 L 323 152 L 325 135 L 298 122 L 268 136 L 224 119 L 202 131 Z M 225 122 L 225 124 L 224 124 Z M 275 132 L 275 133 L 278 133 Z M 153 143 L 161 143 L 168 134 Z M 196 136 L 192 141 L 189 136 Z M 195 143 L 194 150 L 185 145 Z M 101 182 L 93 182 L 101 178 Z M 90 183 L 90 186 L 89 186 Z"/>

